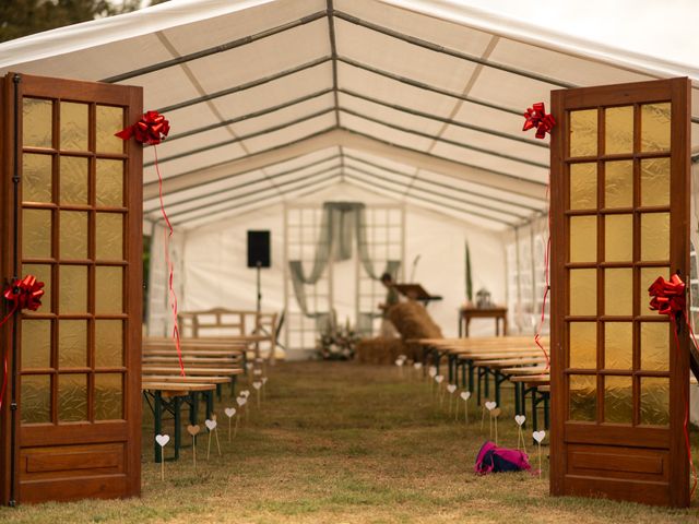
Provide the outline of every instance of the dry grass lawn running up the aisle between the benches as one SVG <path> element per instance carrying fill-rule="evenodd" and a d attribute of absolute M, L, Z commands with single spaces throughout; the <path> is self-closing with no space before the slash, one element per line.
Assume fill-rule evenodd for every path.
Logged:
<path fill-rule="evenodd" d="M 144 410 L 140 499 L 2 508 L 0 522 L 699 522 L 697 504 L 677 511 L 552 498 L 546 473 L 541 479 L 526 473 L 475 476 L 487 421 L 481 430 L 472 407 L 469 427 L 463 419 L 455 422 L 439 409 L 427 383 L 401 378 L 394 367 L 282 364 L 266 388 L 262 409 L 252 402 L 250 420 L 232 444 L 223 414 L 230 404 L 216 403 L 223 457 L 213 446 L 206 461 L 206 440 L 200 438 L 197 472 L 188 448 L 179 462 L 166 463 L 161 480 L 159 465 L 152 462 L 152 419 Z M 511 398 L 506 392 L 503 402 Z M 507 404 L 498 429 L 499 443 L 516 446 Z M 547 451 L 544 446 L 544 472 Z M 530 452 L 536 467 L 535 450 Z"/>

